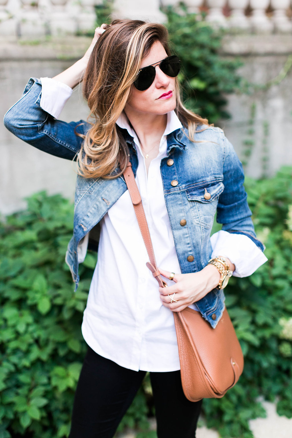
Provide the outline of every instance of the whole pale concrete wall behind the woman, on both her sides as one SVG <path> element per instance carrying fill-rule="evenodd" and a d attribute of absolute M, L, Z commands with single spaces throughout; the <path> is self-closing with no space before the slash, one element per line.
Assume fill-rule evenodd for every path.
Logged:
<path fill-rule="evenodd" d="M 84 53 L 89 39 L 70 37 L 44 44 L 20 45 L 0 42 L 0 115 L 21 96 L 28 78 L 53 77 Z M 270 40 L 269 40 L 270 38 Z M 241 54 L 245 66 L 241 73 L 249 81 L 264 84 L 277 77 L 292 53 L 291 37 L 285 35 L 234 35 L 224 43 L 226 56 Z M 67 59 L 64 59 L 67 58 Z M 69 59 L 68 59 L 69 58 Z M 286 63 L 287 64 L 287 63 Z M 252 95 L 228 96 L 232 119 L 221 122 L 240 157 L 250 149 L 246 174 L 260 177 L 273 174 L 281 165 L 292 166 L 292 69 L 278 85 Z M 254 117 L 251 108 L 256 105 Z M 87 117 L 87 105 L 76 89 L 61 118 L 65 121 Z M 253 121 L 253 125 L 250 124 Z M 250 134 L 250 129 L 254 134 Z M 23 198 L 40 190 L 62 193 L 73 200 L 76 173 L 67 160 L 38 151 L 15 138 L 0 125 L 0 212 L 8 214 L 25 207 Z M 252 146 L 243 141 L 254 142 Z M 265 164 L 265 166 L 264 166 Z"/>

